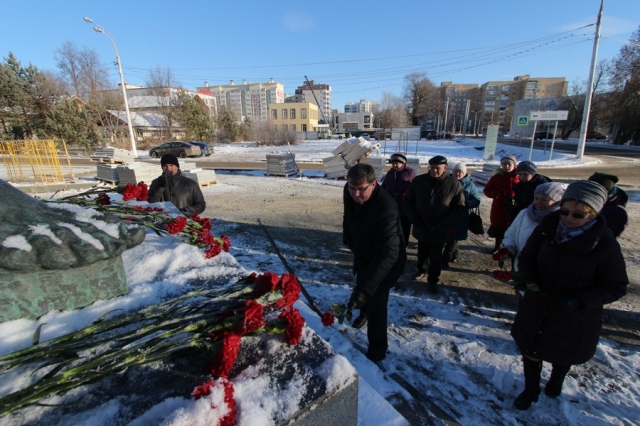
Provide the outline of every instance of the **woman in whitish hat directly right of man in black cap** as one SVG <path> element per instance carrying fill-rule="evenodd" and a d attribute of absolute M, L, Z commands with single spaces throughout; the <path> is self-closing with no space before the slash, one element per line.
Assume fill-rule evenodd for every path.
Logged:
<path fill-rule="evenodd" d="M 475 184 L 467 175 L 467 166 L 462 163 L 456 163 L 451 169 L 451 176 L 462 184 L 462 193 L 464 194 L 464 205 L 467 207 L 464 216 L 460 222 L 454 224 L 456 231 L 453 239 L 444 246 L 442 253 L 442 268 L 449 269 L 449 262 L 457 262 L 460 257 L 460 243 L 468 237 L 469 231 L 469 210 L 475 209 L 480 205 L 480 193 Z"/>

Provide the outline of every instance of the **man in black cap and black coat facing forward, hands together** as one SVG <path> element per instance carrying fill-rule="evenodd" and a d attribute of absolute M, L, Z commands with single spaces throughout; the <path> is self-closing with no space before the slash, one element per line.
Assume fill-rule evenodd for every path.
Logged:
<path fill-rule="evenodd" d="M 404 197 L 404 209 L 418 240 L 418 273 L 427 273 L 427 290 L 438 292 L 444 245 L 455 236 L 457 223 L 464 220 L 464 194 L 460 182 L 447 173 L 447 159 L 436 155 L 429 160 L 429 173 L 417 176 Z M 428 266 L 427 266 L 428 263 Z"/>

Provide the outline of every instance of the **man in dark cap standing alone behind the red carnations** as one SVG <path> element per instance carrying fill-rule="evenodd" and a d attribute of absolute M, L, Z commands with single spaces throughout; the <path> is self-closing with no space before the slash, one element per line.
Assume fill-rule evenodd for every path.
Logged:
<path fill-rule="evenodd" d="M 180 171 L 178 159 L 165 154 L 160 159 L 162 176 L 154 179 L 149 188 L 148 202 L 172 202 L 185 216 L 200 214 L 207 206 L 197 182 L 185 177 Z"/>

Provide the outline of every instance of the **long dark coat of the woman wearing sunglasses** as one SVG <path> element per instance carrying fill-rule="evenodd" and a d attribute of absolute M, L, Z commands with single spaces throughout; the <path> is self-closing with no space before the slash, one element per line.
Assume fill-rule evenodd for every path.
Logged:
<path fill-rule="evenodd" d="M 556 244 L 559 220 L 559 212 L 544 218 L 519 256 L 520 275 L 540 291 L 525 292 L 511 335 L 523 354 L 575 365 L 595 353 L 603 305 L 624 296 L 629 279 L 620 245 L 601 216 L 584 234 Z M 563 298 L 575 298 L 578 307 Z"/>

